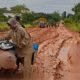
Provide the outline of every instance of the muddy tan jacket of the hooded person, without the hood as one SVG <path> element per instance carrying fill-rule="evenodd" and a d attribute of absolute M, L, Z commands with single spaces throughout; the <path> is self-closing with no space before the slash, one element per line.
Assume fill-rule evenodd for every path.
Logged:
<path fill-rule="evenodd" d="M 15 30 L 10 30 L 5 39 L 12 39 L 12 42 L 17 46 L 16 54 L 19 57 L 24 57 L 29 50 L 34 51 L 31 36 L 21 25 L 17 25 Z"/>

